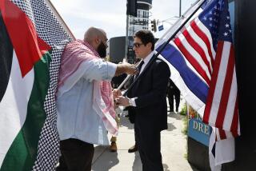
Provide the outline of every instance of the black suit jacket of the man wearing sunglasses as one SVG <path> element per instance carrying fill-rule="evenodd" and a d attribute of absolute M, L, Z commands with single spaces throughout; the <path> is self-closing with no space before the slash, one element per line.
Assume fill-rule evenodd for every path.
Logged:
<path fill-rule="evenodd" d="M 136 107 L 128 107 L 130 121 L 143 129 L 167 129 L 166 89 L 170 69 L 166 62 L 152 57 L 138 76 L 138 82 L 127 90 L 127 97 L 138 97 Z"/>

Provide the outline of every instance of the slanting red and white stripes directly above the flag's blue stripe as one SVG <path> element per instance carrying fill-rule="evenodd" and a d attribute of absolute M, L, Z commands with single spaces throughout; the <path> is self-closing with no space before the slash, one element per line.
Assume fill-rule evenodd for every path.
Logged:
<path fill-rule="evenodd" d="M 197 70 L 202 80 L 210 85 L 215 51 L 211 34 L 206 26 L 198 18 L 195 19 L 174 39 L 174 43 L 186 57 L 187 62 Z"/>

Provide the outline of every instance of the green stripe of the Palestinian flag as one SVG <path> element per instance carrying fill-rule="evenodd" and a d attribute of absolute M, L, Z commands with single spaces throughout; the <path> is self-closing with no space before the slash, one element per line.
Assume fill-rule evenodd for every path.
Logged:
<path fill-rule="evenodd" d="M 39 136 L 46 120 L 43 104 L 50 84 L 50 60 L 50 53 L 47 52 L 34 64 L 34 85 L 27 106 L 26 121 L 6 153 L 1 171 L 31 170 L 34 165 Z"/>

